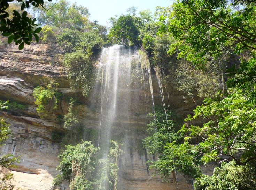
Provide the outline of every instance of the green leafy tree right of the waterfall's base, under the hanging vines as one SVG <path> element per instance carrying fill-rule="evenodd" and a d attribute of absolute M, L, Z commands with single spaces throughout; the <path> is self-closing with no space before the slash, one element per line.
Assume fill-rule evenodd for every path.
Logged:
<path fill-rule="evenodd" d="M 196 166 L 194 157 L 188 154 L 188 146 L 179 144 L 180 137 L 175 128 L 177 124 L 171 120 L 173 113 L 166 114 L 161 109 L 156 109 L 154 114 L 149 114 L 154 118 L 148 126 L 148 137 L 143 139 L 143 145 L 149 154 L 158 156 L 156 161 L 148 161 L 149 169 L 154 169 L 156 174 L 160 174 L 165 180 L 171 174 L 178 171 L 186 175 L 189 179 L 198 177 L 201 170 Z M 175 176 L 175 175 L 174 175 Z"/>

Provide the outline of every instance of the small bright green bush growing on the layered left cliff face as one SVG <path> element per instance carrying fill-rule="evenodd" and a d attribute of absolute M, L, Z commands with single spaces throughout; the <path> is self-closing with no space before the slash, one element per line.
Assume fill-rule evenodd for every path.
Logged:
<path fill-rule="evenodd" d="M 42 117 L 46 117 L 52 111 L 57 109 L 57 86 L 53 80 L 46 85 L 46 87 L 38 86 L 34 88 L 33 96 L 35 104 L 37 105 L 37 113 Z"/>

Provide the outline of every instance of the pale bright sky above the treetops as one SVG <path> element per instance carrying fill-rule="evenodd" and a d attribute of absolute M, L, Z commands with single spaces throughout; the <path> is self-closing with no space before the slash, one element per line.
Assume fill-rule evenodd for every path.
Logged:
<path fill-rule="evenodd" d="M 90 12 L 90 20 L 98 20 L 98 24 L 108 26 L 110 17 L 126 14 L 126 10 L 137 7 L 137 11 L 150 9 L 155 12 L 156 6 L 167 7 L 173 3 L 172 0 L 68 0 L 71 3 L 87 7 Z"/>

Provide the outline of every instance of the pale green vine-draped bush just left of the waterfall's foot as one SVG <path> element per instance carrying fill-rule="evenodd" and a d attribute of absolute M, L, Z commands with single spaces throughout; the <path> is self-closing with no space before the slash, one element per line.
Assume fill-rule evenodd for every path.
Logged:
<path fill-rule="evenodd" d="M 90 142 L 82 141 L 81 144 L 67 145 L 66 150 L 59 155 L 60 164 L 57 170 L 62 172 L 54 181 L 54 185 L 60 185 L 63 180 L 71 181 L 72 189 L 92 189 L 93 187 L 93 171 L 96 165 L 96 152 L 99 148 L 95 148 Z M 85 180 L 81 181 L 81 177 Z M 77 184 L 76 184 L 77 182 Z"/>

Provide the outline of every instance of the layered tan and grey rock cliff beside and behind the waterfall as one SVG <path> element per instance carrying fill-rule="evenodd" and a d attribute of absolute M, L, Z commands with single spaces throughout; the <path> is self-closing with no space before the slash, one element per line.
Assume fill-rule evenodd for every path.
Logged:
<path fill-rule="evenodd" d="M 23 51 L 14 46 L 0 51 L 0 99 L 28 105 L 28 109 L 19 114 L 5 112 L 1 115 L 10 124 L 12 135 L 6 145 L 0 147 L 0 152 L 20 156 L 21 160 L 17 164 L 18 168 L 3 171 L 14 174 L 13 183 L 16 189 L 54 189 L 52 180 L 58 174 L 55 168 L 59 164 L 57 155 L 60 145 L 52 140 L 51 135 L 53 131 L 65 132 L 65 129 L 56 118 L 41 119 L 37 115 L 32 92 L 33 88 L 40 84 L 40 80 L 50 77 L 60 84 L 59 90 L 63 94 L 70 94 L 65 69 L 56 63 L 58 52 L 48 45 L 31 45 Z M 153 86 L 155 104 L 161 105 L 162 99 L 156 90 L 156 79 L 153 79 Z M 168 92 L 170 106 L 177 114 L 186 115 L 194 107 L 194 103 L 185 104 L 182 95 L 174 88 L 169 87 Z M 130 96 L 139 94 L 143 98 L 149 98 L 149 93 L 145 95 L 143 89 L 137 89 L 131 92 Z M 81 101 L 83 104 L 77 107 L 76 115 L 79 122 L 89 129 L 97 128 L 99 111 L 92 109 L 91 103 L 88 102 L 90 100 Z M 57 112 L 67 113 L 67 102 L 62 101 L 59 107 L 61 109 Z M 172 179 L 170 183 L 163 183 L 159 178 L 150 176 L 146 166 L 150 157 L 141 146 L 141 139 L 146 137 L 148 123 L 145 110 L 149 108 L 140 99 L 131 99 L 131 107 L 133 110 L 129 119 L 124 116 L 122 120 L 113 123 L 113 136 L 123 138 L 124 142 L 132 142 L 125 144 L 124 154 L 119 162 L 118 189 L 176 189 Z M 83 135 L 86 138 L 86 132 Z M 192 185 L 181 174 L 177 175 L 177 181 L 179 189 L 192 189 Z M 68 185 L 63 185 L 62 189 L 69 189 Z"/>

